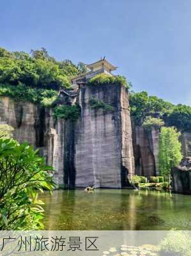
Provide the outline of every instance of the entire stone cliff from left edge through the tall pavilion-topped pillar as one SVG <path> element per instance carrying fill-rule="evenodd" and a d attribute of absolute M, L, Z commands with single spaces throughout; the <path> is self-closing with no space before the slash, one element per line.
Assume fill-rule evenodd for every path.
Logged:
<path fill-rule="evenodd" d="M 109 104 L 112 110 L 91 108 L 93 98 Z M 82 86 L 76 100 L 81 113 L 77 122 L 72 122 L 55 120 L 52 109 L 1 97 L 0 122 L 15 129 L 15 139 L 40 149 L 55 168 L 54 179 L 59 185 L 128 185 L 128 178 L 134 175 L 128 92 L 116 84 Z"/>

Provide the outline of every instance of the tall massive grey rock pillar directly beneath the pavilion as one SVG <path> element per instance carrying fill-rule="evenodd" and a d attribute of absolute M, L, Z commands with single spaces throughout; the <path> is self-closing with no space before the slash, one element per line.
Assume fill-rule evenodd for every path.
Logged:
<path fill-rule="evenodd" d="M 91 99 L 111 105 L 113 111 L 91 108 Z M 118 85 L 84 86 L 80 89 L 79 104 L 75 186 L 121 188 L 127 182 L 126 175 L 134 174 L 128 93 Z"/>

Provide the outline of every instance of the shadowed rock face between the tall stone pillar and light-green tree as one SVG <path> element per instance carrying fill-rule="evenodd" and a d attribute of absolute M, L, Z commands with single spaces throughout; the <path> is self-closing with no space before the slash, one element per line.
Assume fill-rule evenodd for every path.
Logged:
<path fill-rule="evenodd" d="M 133 125 L 135 173 L 146 177 L 158 175 L 158 130 Z"/>

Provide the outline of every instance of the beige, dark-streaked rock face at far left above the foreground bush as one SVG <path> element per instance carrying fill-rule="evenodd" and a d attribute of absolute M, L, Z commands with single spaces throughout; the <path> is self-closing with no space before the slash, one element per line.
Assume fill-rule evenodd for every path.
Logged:
<path fill-rule="evenodd" d="M 29 102 L 14 102 L 8 97 L 1 97 L 0 122 L 11 125 L 15 129 L 14 137 L 20 142 L 27 141 L 31 145 L 41 147 L 43 120 L 40 118 L 38 106 Z"/>

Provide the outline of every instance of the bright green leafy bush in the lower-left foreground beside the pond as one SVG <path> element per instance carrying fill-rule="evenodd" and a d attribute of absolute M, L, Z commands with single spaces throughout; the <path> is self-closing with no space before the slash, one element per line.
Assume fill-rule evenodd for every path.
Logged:
<path fill-rule="evenodd" d="M 52 190 L 51 172 L 38 150 L 0 139 L 0 230 L 43 229 L 38 191 Z"/>

